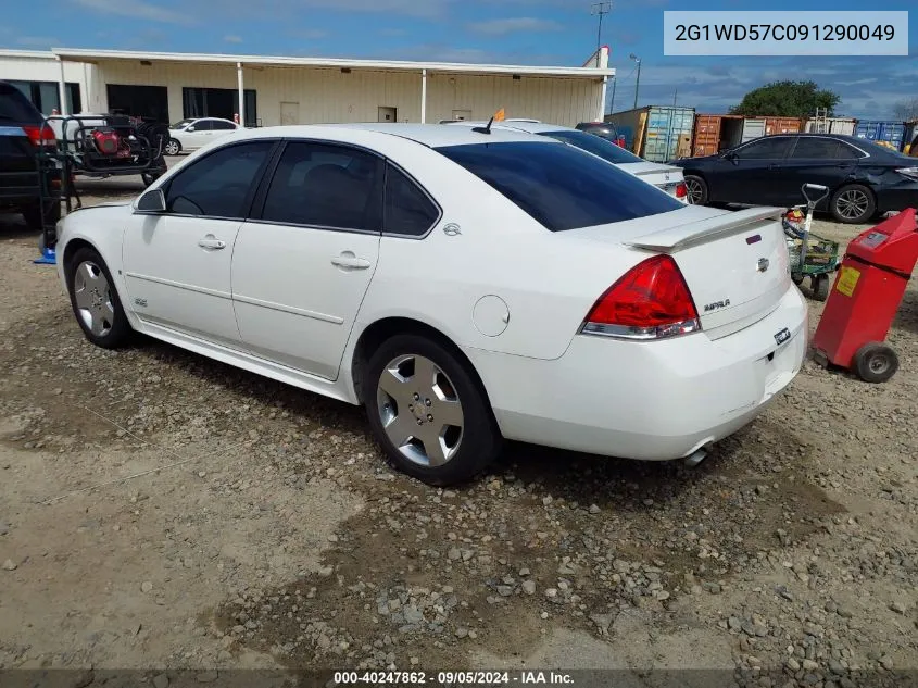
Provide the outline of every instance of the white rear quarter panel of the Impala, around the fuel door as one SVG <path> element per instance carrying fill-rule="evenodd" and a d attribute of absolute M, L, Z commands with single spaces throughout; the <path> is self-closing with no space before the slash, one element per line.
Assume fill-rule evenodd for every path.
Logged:
<path fill-rule="evenodd" d="M 424 239 L 383 237 L 355 332 L 383 317 L 411 317 L 456 345 L 535 359 L 567 349 L 595 300 L 644 258 L 624 247 L 598 250 L 571 233 L 551 233 L 440 153 L 377 145 L 412 173 L 443 210 Z M 461 234 L 449 236 L 448 224 Z M 498 336 L 476 326 L 475 305 L 498 296 L 510 318 Z"/>

